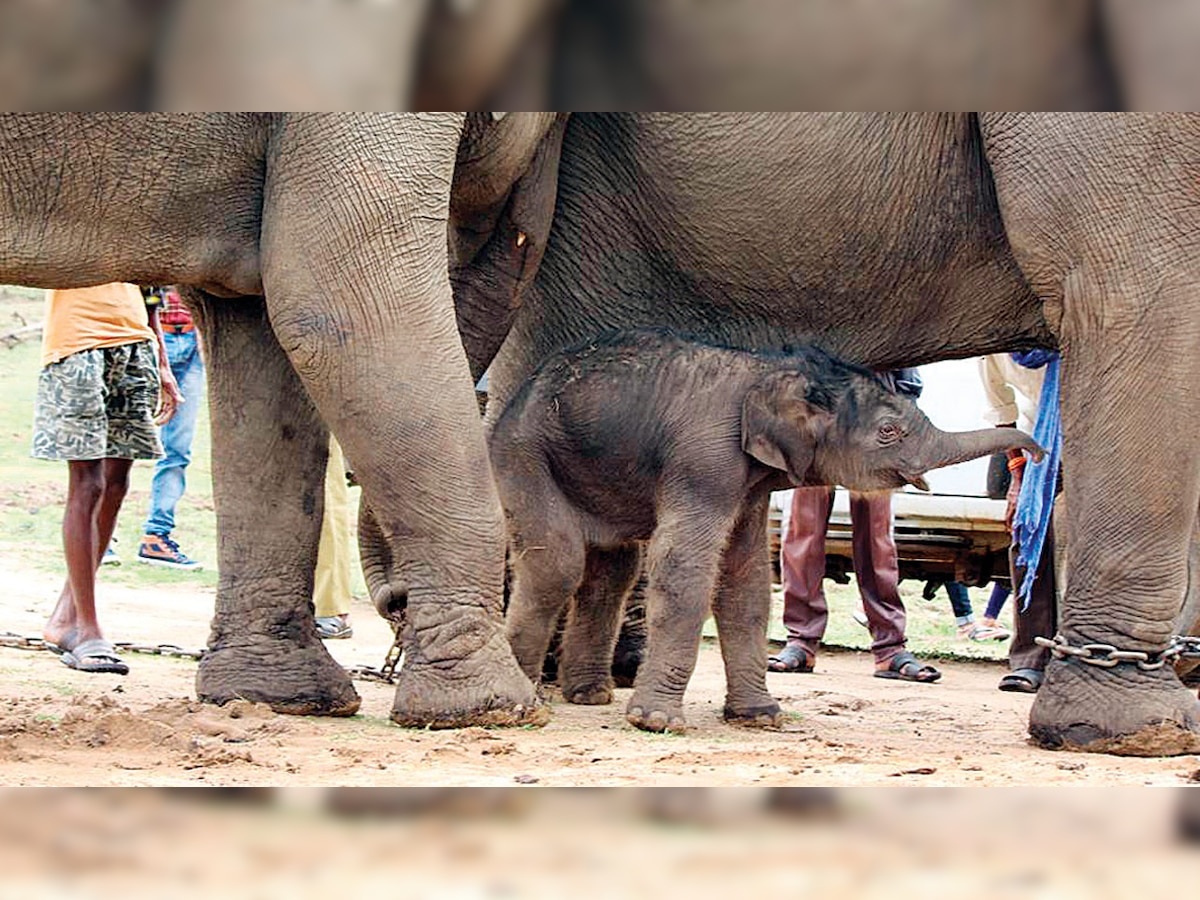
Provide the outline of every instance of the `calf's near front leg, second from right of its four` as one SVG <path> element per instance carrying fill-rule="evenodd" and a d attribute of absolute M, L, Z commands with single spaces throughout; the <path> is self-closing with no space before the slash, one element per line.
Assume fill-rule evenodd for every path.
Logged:
<path fill-rule="evenodd" d="M 646 662 L 625 709 L 625 718 L 638 728 L 686 728 L 683 694 L 696 667 L 701 629 L 732 526 L 732 515 L 660 514 L 648 548 Z"/>

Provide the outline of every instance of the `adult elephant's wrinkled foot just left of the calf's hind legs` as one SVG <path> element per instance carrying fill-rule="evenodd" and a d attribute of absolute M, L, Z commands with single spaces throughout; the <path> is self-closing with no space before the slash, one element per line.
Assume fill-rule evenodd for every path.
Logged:
<path fill-rule="evenodd" d="M 476 674 L 464 676 L 470 666 Z M 443 665 L 410 665 L 396 680 L 391 720 L 406 728 L 466 728 L 473 725 L 545 725 L 550 707 L 517 667 L 511 654 L 481 665 L 476 659 Z"/>

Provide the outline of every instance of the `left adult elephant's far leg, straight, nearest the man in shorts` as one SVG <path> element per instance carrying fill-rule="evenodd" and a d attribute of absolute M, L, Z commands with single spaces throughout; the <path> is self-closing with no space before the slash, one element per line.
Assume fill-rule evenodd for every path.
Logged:
<path fill-rule="evenodd" d="M 325 426 L 262 300 L 190 300 L 209 364 L 220 568 L 197 694 L 211 703 L 269 703 L 278 713 L 353 715 L 359 695 L 325 650 L 312 610 Z"/>

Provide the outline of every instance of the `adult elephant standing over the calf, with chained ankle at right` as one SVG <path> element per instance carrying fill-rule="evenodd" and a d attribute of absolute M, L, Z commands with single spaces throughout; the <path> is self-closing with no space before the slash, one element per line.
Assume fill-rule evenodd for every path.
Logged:
<path fill-rule="evenodd" d="M 1190 115 L 572 116 L 493 408 L 552 350 L 618 326 L 878 368 L 1057 347 L 1060 630 L 1153 661 L 1200 508 L 1196 173 Z M 1195 752 L 1200 708 L 1169 666 L 1055 660 L 1030 731 Z"/>

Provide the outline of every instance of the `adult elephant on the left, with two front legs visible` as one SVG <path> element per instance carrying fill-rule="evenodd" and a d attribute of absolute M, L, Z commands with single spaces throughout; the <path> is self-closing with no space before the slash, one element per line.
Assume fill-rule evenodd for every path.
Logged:
<path fill-rule="evenodd" d="M 468 356 L 487 365 L 476 319 L 511 316 L 545 245 L 556 121 L 0 116 L 0 282 L 179 283 L 199 317 L 220 533 L 200 698 L 359 707 L 312 617 L 328 425 L 408 587 L 394 718 L 539 714 L 500 624 Z"/>

